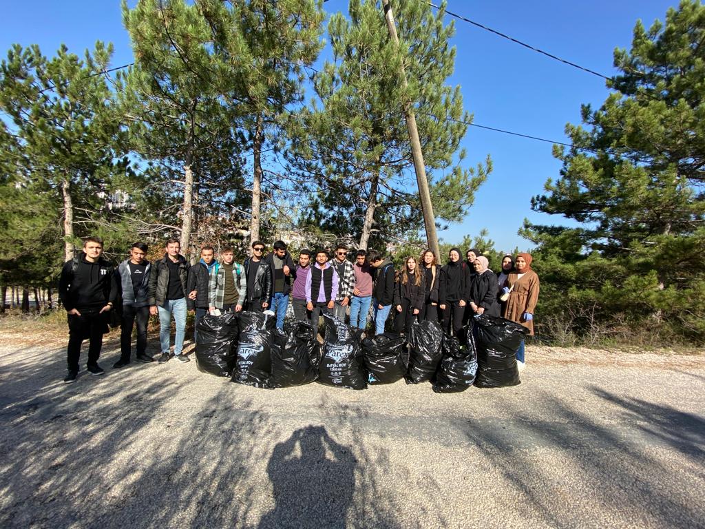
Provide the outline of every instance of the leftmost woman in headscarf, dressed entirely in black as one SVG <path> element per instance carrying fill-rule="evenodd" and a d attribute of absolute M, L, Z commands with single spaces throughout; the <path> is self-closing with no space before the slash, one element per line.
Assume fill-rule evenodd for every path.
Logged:
<path fill-rule="evenodd" d="M 439 308 L 443 313 L 443 329 L 460 336 L 462 316 L 470 296 L 470 270 L 460 260 L 460 250 L 450 248 L 448 264 L 441 269 Z M 462 336 L 461 336 L 462 339 Z"/>

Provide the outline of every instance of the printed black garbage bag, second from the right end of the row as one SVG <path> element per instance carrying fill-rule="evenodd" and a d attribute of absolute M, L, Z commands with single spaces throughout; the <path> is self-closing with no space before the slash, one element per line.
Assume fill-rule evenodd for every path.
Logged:
<path fill-rule="evenodd" d="M 477 374 L 477 351 L 472 334 L 467 333 L 465 345 L 455 336 L 443 336 L 443 358 L 434 378 L 436 393 L 460 393 L 472 386 Z"/>

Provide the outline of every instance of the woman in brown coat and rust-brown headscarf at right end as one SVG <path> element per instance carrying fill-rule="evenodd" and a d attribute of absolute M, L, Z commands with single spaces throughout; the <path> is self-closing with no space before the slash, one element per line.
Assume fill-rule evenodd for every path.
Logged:
<path fill-rule="evenodd" d="M 531 268 L 534 258 L 529 253 L 520 253 L 514 262 L 515 271 L 508 274 L 503 292 L 509 293 L 503 316 L 529 329 L 534 336 L 534 310 L 539 300 L 539 276 Z M 517 351 L 520 369 L 524 367 L 524 341 Z"/>

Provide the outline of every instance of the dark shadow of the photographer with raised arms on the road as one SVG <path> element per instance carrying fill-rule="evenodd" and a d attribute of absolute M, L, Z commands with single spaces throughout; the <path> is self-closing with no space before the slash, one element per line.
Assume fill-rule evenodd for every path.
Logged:
<path fill-rule="evenodd" d="M 276 504 L 259 528 L 345 528 L 357 461 L 322 426 L 307 426 L 278 443 L 267 464 Z"/>

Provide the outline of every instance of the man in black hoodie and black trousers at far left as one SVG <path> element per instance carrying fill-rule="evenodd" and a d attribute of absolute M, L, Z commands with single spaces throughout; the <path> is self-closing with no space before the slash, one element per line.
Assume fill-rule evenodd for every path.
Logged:
<path fill-rule="evenodd" d="M 108 311 L 118 298 L 113 267 L 103 257 L 103 241 L 88 237 L 83 251 L 66 261 L 59 278 L 59 299 L 68 313 L 68 375 L 66 384 L 76 381 L 81 343 L 90 340 L 87 369 L 92 375 L 103 375 L 98 365 L 103 334 L 108 332 Z"/>

